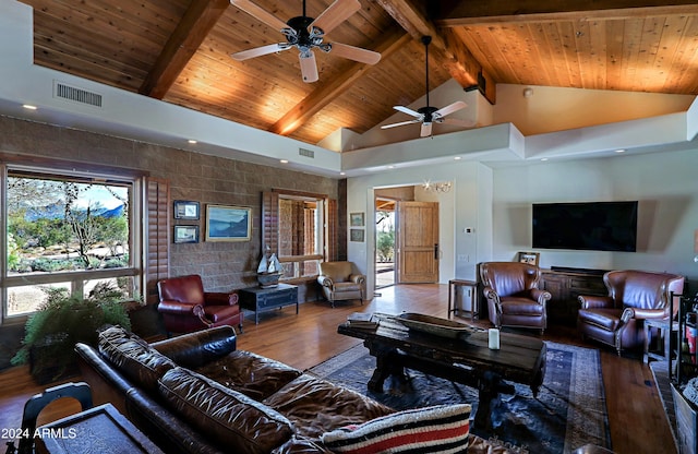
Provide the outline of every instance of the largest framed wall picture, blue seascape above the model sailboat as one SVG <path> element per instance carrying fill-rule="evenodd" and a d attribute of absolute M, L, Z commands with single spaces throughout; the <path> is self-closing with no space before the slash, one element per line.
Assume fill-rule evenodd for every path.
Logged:
<path fill-rule="evenodd" d="M 206 241 L 250 241 L 252 208 L 206 205 Z"/>

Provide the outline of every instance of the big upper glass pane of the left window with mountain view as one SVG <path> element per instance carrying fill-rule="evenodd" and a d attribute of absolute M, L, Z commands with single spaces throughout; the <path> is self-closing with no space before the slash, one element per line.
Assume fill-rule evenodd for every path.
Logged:
<path fill-rule="evenodd" d="M 130 186 L 8 177 L 8 275 L 123 268 Z"/>

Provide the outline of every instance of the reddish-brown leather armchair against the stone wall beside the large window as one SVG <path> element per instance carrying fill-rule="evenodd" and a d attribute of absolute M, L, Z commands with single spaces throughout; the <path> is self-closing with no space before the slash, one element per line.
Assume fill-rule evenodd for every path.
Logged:
<path fill-rule="evenodd" d="M 214 326 L 238 325 L 242 333 L 243 313 L 237 292 L 204 291 L 201 276 L 172 277 L 157 283 L 165 330 L 191 333 Z"/>

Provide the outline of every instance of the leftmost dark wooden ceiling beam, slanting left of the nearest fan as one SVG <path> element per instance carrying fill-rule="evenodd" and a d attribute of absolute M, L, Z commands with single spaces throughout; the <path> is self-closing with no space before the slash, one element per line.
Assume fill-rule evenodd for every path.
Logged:
<path fill-rule="evenodd" d="M 139 93 L 163 99 L 229 4 L 230 0 L 193 1 Z"/>

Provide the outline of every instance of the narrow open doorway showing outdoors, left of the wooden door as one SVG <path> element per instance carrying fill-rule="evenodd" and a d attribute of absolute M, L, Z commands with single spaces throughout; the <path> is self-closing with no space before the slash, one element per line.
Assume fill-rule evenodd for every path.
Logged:
<path fill-rule="evenodd" d="M 395 200 L 375 200 L 375 288 L 396 284 Z"/>

